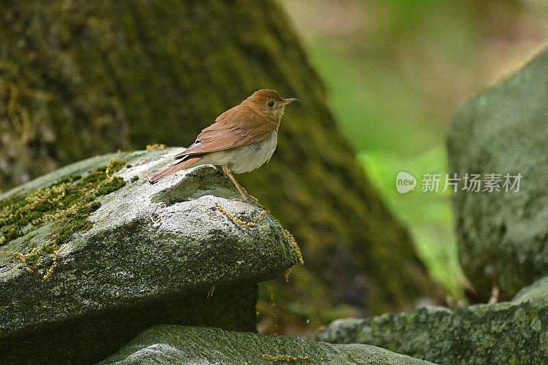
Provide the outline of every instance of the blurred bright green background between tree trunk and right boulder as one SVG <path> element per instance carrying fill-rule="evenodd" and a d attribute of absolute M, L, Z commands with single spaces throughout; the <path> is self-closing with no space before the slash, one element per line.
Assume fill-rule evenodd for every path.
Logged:
<path fill-rule="evenodd" d="M 301 34 L 340 129 L 373 184 L 453 297 L 458 263 L 449 192 L 421 192 L 447 172 L 445 131 L 465 99 L 508 77 L 548 38 L 548 1 L 278 0 Z M 415 191 L 395 177 L 411 173 Z"/>

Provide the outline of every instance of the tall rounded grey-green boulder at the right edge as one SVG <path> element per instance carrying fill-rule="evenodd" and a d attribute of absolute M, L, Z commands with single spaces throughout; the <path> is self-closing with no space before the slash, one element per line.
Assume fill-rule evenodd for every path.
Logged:
<path fill-rule="evenodd" d="M 502 174 L 501 192 L 453 194 L 459 255 L 479 300 L 501 299 L 548 273 L 548 52 L 462 105 L 447 138 L 449 173 Z M 504 175 L 521 174 L 519 192 Z M 483 189 L 483 187 L 482 187 Z"/>

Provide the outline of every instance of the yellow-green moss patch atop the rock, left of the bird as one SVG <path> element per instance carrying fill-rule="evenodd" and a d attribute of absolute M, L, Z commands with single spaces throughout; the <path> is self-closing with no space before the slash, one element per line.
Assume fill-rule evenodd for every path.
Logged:
<path fill-rule="evenodd" d="M 40 226 L 49 221 L 56 222 L 40 249 L 29 248 L 19 257 L 25 265 L 33 268 L 40 257 L 49 255 L 76 232 L 92 227 L 88 216 L 101 207 L 97 197 L 109 194 L 125 185 L 123 178 L 110 177 L 125 165 L 125 161 L 112 159 L 106 166 L 96 168 L 86 177 L 71 175 L 53 184 L 29 192 L 24 197 L 12 197 L 0 202 L 0 245 L 24 236 L 27 225 Z"/>

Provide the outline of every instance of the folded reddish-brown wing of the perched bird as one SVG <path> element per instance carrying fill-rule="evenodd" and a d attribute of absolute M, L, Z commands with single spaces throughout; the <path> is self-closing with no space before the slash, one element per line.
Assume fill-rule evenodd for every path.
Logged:
<path fill-rule="evenodd" d="M 187 155 L 197 155 L 232 149 L 270 136 L 276 122 L 244 105 L 227 110 L 215 123 L 203 129 L 188 149 L 175 155 L 175 160 Z"/>

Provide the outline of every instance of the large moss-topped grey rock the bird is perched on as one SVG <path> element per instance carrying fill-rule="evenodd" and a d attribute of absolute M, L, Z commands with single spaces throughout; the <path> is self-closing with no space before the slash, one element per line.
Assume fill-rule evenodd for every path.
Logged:
<path fill-rule="evenodd" d="M 91 158 L 0 195 L 0 363 L 95 362 L 158 323 L 255 331 L 256 284 L 295 247 L 212 166 L 149 184 L 175 151 Z"/>

